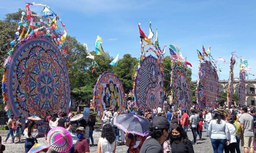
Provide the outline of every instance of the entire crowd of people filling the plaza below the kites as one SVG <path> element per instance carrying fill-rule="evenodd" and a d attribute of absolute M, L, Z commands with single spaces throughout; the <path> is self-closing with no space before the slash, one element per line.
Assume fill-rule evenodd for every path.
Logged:
<path fill-rule="evenodd" d="M 80 113 L 81 111 L 77 110 L 77 114 Z M 151 123 L 148 127 L 149 135 L 125 133 L 114 125 L 114 117 L 123 113 L 134 113 L 146 118 Z M 60 126 L 67 129 L 73 138 L 69 153 L 90 152 L 90 146 L 94 146 L 95 118 L 90 115 L 87 121 L 85 119 L 70 121 L 73 116 L 71 110 L 69 114 L 61 111 L 47 112 L 43 119 L 44 138 L 47 139 L 50 129 Z M 34 120 L 27 120 L 25 127 L 22 127 L 20 120 L 21 117 L 14 118 L 11 114 L 6 122 L 9 132 L 3 142 L 6 143 L 10 135 L 11 143 L 15 143 L 15 138 L 16 142 L 20 142 L 20 135 L 24 135 L 27 153 L 37 143 L 38 130 Z M 205 137 L 210 138 L 214 153 L 223 151 L 240 153 L 240 141 L 245 153 L 254 152 L 256 109 L 252 107 L 232 106 L 228 109 L 219 106 L 218 108 L 200 109 L 194 105 L 189 109 L 175 109 L 174 106 L 165 104 L 163 108 L 154 107 L 153 109 L 128 107 L 125 112 L 106 108 L 101 121 L 102 132 L 97 145 L 97 153 L 114 153 L 116 146 L 119 145 L 126 145 L 128 153 L 194 153 L 193 145 L 198 145 L 198 142 Z M 188 137 L 188 129 L 191 129 L 193 138 Z M 206 130 L 204 136 L 202 135 L 203 129 Z M 0 152 L 3 152 L 5 146 L 0 145 Z M 47 152 L 54 152 L 54 150 L 49 148 Z"/>

